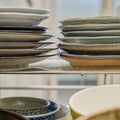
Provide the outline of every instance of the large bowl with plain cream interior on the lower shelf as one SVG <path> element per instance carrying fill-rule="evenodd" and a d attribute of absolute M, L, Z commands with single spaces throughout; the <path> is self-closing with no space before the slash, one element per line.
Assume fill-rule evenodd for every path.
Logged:
<path fill-rule="evenodd" d="M 69 101 L 72 117 L 75 119 L 120 107 L 119 92 L 120 85 L 102 85 L 78 91 Z"/>

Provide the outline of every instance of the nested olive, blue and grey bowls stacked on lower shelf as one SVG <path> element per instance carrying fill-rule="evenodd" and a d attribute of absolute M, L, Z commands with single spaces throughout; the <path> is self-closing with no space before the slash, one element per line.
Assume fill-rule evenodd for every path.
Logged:
<path fill-rule="evenodd" d="M 30 120 L 66 120 L 70 116 L 67 106 L 33 97 L 2 98 L 0 108 L 15 112 Z"/>

